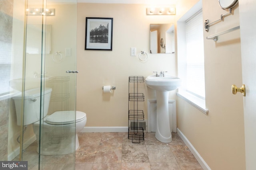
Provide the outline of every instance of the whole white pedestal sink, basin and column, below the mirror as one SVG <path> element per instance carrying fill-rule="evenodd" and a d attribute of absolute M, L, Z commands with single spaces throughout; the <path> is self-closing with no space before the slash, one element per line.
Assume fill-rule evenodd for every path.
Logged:
<path fill-rule="evenodd" d="M 168 113 L 168 96 L 170 91 L 181 86 L 182 81 L 170 75 L 151 75 L 145 80 L 148 87 L 156 90 L 156 139 L 162 143 L 170 143 L 172 133 Z"/>

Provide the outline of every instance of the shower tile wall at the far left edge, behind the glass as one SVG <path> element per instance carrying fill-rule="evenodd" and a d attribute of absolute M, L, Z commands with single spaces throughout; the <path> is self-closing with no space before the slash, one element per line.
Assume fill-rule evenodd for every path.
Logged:
<path fill-rule="evenodd" d="M 0 81 L 10 64 L 12 51 L 13 0 L 0 0 Z M 4 61 L 4 62 L 3 62 Z M 9 67 L 9 66 L 7 66 Z M 1 75 L 4 73 L 4 75 Z M 7 160 L 9 99 L 0 101 L 0 160 Z"/>

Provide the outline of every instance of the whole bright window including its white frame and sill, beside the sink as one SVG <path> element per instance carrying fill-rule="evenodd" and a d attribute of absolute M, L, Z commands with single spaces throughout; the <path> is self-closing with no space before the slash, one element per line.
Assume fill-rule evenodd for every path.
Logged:
<path fill-rule="evenodd" d="M 207 114 L 203 23 L 201 1 L 177 22 L 178 76 L 183 80 L 177 95 Z"/>

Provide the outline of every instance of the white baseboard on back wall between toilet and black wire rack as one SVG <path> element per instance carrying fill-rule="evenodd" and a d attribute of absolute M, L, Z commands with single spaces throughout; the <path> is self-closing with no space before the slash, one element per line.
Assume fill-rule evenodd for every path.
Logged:
<path fill-rule="evenodd" d="M 116 126 L 116 127 L 84 127 L 81 132 L 128 132 L 128 127 L 126 126 Z"/>

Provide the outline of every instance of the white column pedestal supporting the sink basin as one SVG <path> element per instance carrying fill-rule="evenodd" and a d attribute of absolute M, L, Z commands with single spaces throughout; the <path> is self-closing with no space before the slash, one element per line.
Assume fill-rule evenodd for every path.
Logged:
<path fill-rule="evenodd" d="M 172 141 L 168 96 L 168 91 L 156 90 L 156 139 L 162 143 L 170 143 Z"/>

